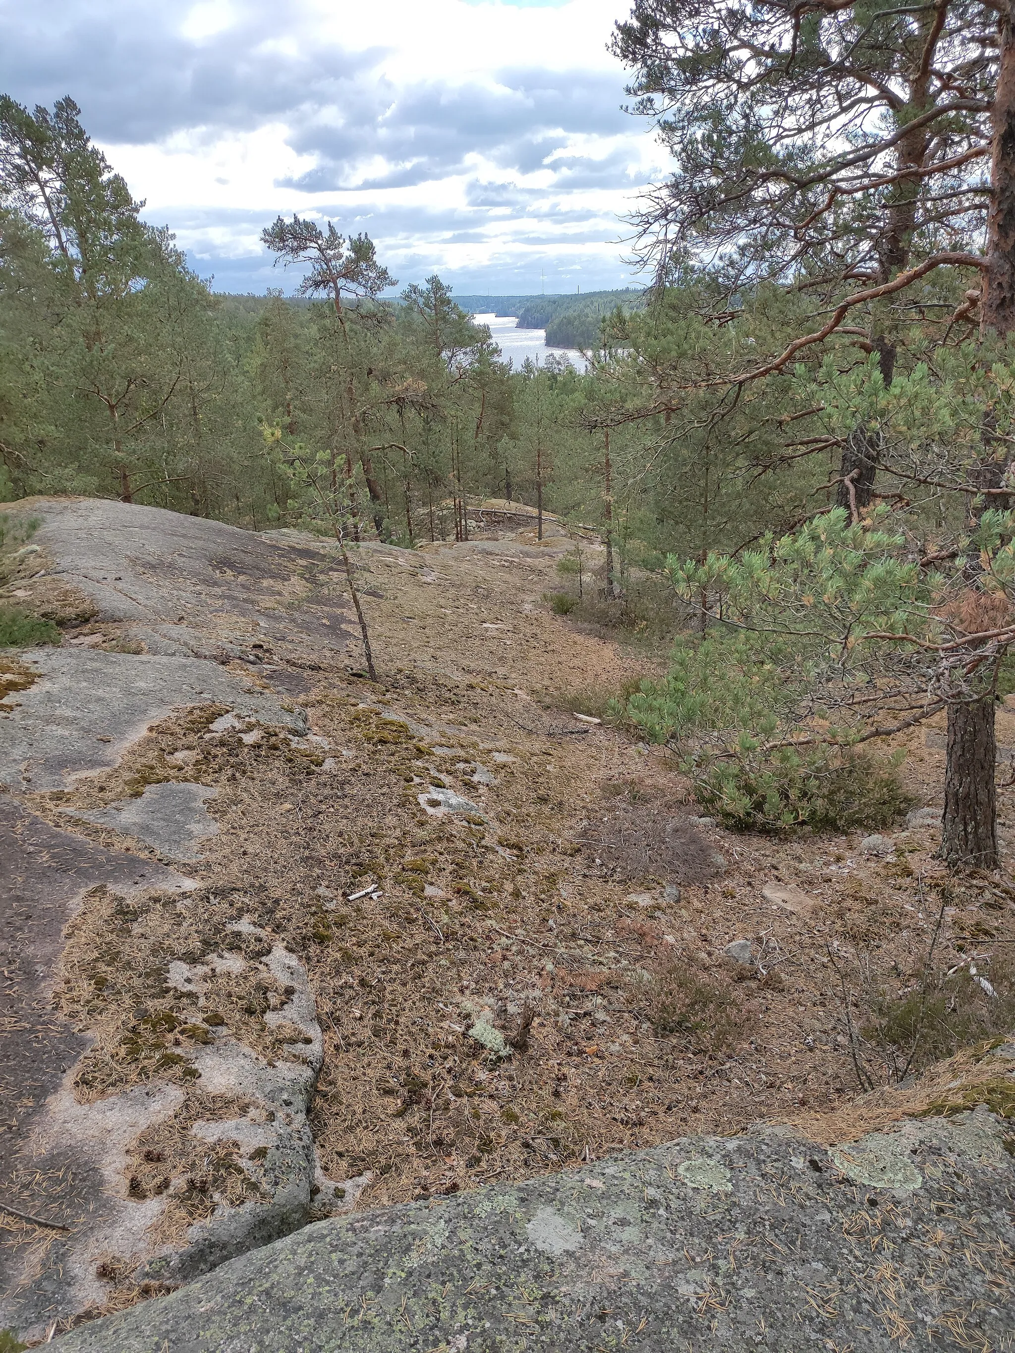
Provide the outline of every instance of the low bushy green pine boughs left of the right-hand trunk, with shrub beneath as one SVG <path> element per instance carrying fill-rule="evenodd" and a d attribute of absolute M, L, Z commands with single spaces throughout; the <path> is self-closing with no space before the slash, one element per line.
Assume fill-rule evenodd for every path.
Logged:
<path fill-rule="evenodd" d="M 735 557 L 668 559 L 704 633 L 681 637 L 665 682 L 643 683 L 626 712 L 677 750 L 699 800 L 728 825 L 876 828 L 908 806 L 897 754 L 857 748 L 947 702 L 949 580 L 907 557 L 887 518 L 878 509 L 853 522 L 835 509 Z M 1001 595 L 1014 536 L 1012 514 L 988 510 L 969 537 Z M 996 664 L 992 655 L 966 679 L 989 689 Z"/>

